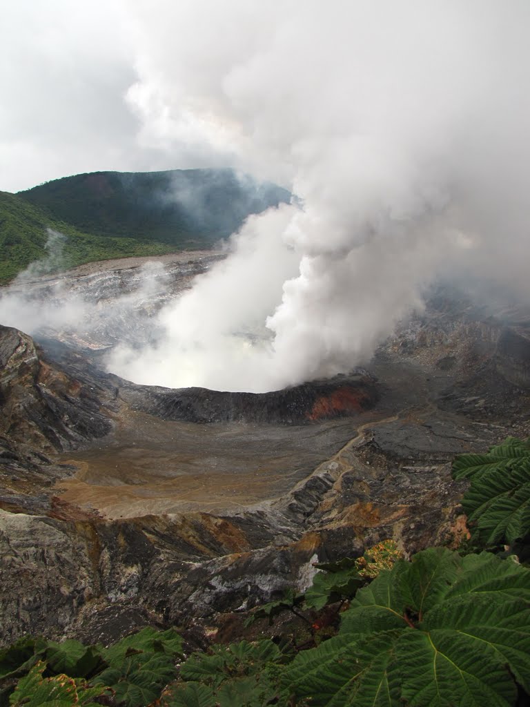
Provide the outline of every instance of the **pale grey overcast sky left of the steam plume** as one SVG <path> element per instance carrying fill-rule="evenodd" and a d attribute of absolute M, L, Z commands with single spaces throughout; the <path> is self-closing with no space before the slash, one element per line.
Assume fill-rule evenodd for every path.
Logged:
<path fill-rule="evenodd" d="M 4 4 L 0 190 L 16 192 L 95 170 L 232 163 L 218 136 L 212 146 L 193 122 L 167 134 L 164 122 L 170 115 L 163 98 L 142 95 L 139 88 L 142 66 L 146 71 L 151 52 L 163 49 L 158 42 L 179 41 L 171 5 L 132 0 Z M 180 5 L 184 11 L 187 2 Z M 160 13 L 156 23 L 153 13 Z M 189 31 L 197 19 L 190 18 Z"/>

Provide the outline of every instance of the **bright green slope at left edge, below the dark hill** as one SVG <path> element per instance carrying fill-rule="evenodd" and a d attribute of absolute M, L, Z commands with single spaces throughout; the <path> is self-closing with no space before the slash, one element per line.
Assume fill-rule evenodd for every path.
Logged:
<path fill-rule="evenodd" d="M 63 257 L 52 269 L 68 269 L 86 262 L 131 255 L 158 255 L 175 248 L 155 240 L 109 238 L 83 233 L 51 218 L 16 194 L 0 192 L 0 284 L 6 284 L 30 262 L 49 255 L 47 228 L 64 233 Z M 50 265 L 53 265 L 50 263 Z"/>

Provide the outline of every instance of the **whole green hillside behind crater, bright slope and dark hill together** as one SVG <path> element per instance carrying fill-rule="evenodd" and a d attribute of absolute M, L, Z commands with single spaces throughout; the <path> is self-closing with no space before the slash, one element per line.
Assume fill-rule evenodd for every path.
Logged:
<path fill-rule="evenodd" d="M 207 249 L 249 214 L 289 201 L 285 189 L 233 170 L 95 172 L 64 177 L 18 194 L 0 192 L 0 284 L 45 249 L 52 228 L 66 235 L 61 262 Z"/>

